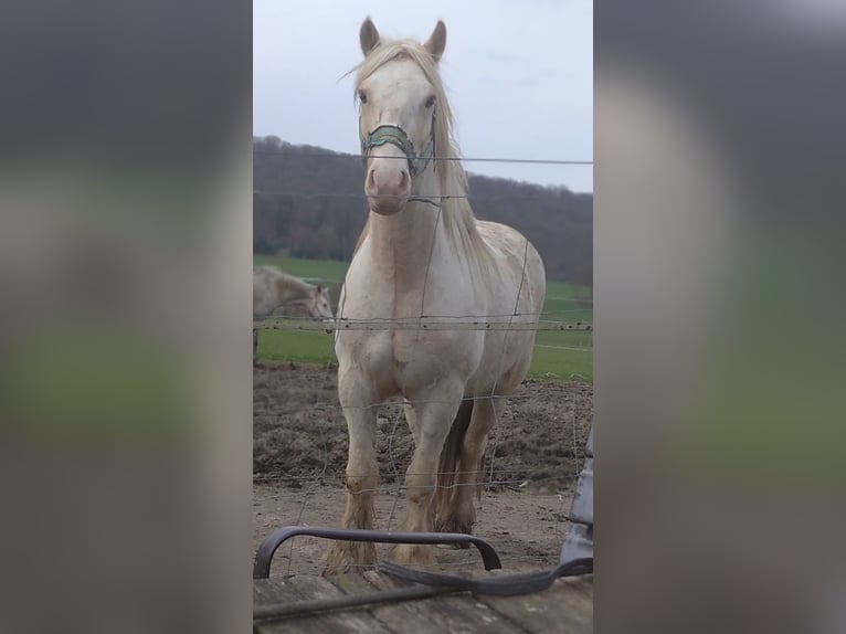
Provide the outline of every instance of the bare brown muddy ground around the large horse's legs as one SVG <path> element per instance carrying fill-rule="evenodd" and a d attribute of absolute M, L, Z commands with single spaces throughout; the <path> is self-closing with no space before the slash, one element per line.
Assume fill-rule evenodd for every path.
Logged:
<path fill-rule="evenodd" d="M 509 398 L 503 420 L 491 431 L 475 532 L 499 552 L 505 570 L 557 563 L 592 405 L 590 384 L 528 380 Z M 279 526 L 338 526 L 348 444 L 337 369 L 260 364 L 253 372 L 253 408 L 254 546 Z M 377 528 L 398 529 L 411 434 L 399 402 L 381 408 L 378 424 L 382 493 L 377 498 Z M 295 538 L 277 552 L 273 573 L 319 573 L 327 546 Z M 442 570 L 480 566 L 473 550 L 436 552 Z"/>

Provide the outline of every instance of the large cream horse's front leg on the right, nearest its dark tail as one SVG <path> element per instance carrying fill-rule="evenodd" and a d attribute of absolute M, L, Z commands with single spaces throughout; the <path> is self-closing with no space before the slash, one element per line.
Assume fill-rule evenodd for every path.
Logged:
<path fill-rule="evenodd" d="M 427 391 L 424 398 L 415 395 L 413 399 L 416 402 L 411 405 L 413 413 L 409 423 L 415 435 L 415 444 L 414 455 L 405 473 L 408 509 L 403 530 L 432 530 L 432 498 L 437 482 L 437 464 L 463 395 L 463 383 L 450 381 Z M 431 547 L 421 545 L 398 545 L 391 550 L 391 558 L 405 563 L 434 563 Z"/>

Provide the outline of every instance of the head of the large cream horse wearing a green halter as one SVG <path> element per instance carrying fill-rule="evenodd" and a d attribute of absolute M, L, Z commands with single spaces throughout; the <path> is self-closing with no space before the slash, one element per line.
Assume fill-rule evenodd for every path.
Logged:
<path fill-rule="evenodd" d="M 383 42 L 368 18 L 359 39 L 364 62 L 356 95 L 364 192 L 372 211 L 390 215 L 405 205 L 415 178 L 434 166 L 435 113 L 443 99 L 437 62 L 446 46 L 446 27 L 438 21 L 425 44 Z"/>

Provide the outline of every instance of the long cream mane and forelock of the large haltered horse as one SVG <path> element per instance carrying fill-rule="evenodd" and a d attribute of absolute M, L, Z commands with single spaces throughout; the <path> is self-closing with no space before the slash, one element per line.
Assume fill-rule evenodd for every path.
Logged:
<path fill-rule="evenodd" d="M 453 113 L 450 108 L 450 102 L 446 99 L 446 91 L 441 81 L 441 73 L 437 68 L 437 62 L 423 47 L 420 42 L 414 40 L 382 40 L 370 51 L 364 60 L 352 71 L 356 72 L 356 86 L 353 95 L 358 94 L 361 83 L 372 75 L 384 64 L 399 59 L 409 59 L 420 66 L 432 85 L 436 99 L 435 116 L 435 156 L 438 159 L 457 159 L 459 156 L 458 146 L 455 142 Z M 467 173 L 464 171 L 458 160 L 437 160 L 435 170 L 441 184 L 442 196 L 464 197 L 467 193 Z M 482 264 L 488 257 L 488 250 L 485 241 L 479 235 L 476 228 L 476 218 L 473 209 L 466 198 L 443 198 L 441 199 L 442 218 L 446 234 L 452 237 L 456 246 L 461 245 L 464 251 L 476 254 L 476 260 Z M 370 221 L 364 228 L 352 251 L 355 256 L 368 234 Z"/>

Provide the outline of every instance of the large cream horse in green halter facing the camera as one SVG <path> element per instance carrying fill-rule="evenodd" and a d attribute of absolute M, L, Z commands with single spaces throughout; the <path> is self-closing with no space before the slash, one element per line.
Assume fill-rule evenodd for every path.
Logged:
<path fill-rule="evenodd" d="M 524 235 L 477 220 L 467 201 L 438 71 L 445 24 L 438 21 L 421 44 L 383 39 L 367 18 L 359 40 L 364 59 L 350 73 L 357 72 L 369 214 L 338 315 L 392 323 L 336 329 L 338 395 L 349 434 L 341 525 L 373 526 L 377 406 L 399 395 L 414 442 L 401 529 L 470 532 L 488 432 L 531 362 L 546 272 Z M 434 317 L 456 327 L 425 328 Z M 479 319 L 499 319 L 503 327 L 474 328 Z M 408 324 L 416 327 L 400 327 Z M 420 545 L 396 545 L 390 557 L 434 562 L 431 547 Z M 372 543 L 335 541 L 324 573 L 374 563 Z"/>

